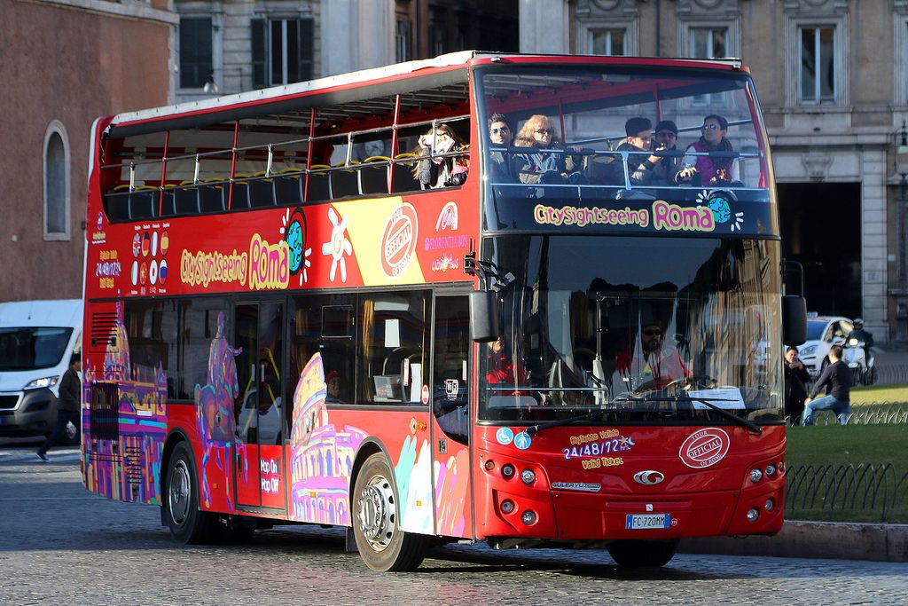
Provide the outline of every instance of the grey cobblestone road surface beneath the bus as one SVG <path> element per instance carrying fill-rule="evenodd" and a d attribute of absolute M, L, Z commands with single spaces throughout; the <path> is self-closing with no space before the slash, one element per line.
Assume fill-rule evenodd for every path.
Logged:
<path fill-rule="evenodd" d="M 279 527 L 249 545 L 182 547 L 158 508 L 84 492 L 78 453 L 0 444 L 0 604 L 903 604 L 908 567 L 679 554 L 626 571 L 604 551 L 434 551 L 377 574 L 335 529 Z"/>

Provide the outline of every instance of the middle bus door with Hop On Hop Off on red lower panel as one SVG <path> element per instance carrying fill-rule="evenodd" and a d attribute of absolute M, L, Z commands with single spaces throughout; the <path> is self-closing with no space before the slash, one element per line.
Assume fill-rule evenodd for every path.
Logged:
<path fill-rule="evenodd" d="M 237 503 L 284 509 L 281 401 L 284 305 L 278 302 L 236 306 L 236 370 L 240 380 L 237 416 Z"/>

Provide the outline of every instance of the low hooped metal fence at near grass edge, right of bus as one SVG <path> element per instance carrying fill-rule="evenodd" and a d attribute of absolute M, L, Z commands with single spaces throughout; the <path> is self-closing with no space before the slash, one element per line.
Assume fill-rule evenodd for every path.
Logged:
<path fill-rule="evenodd" d="M 885 465 L 789 465 L 785 476 L 785 511 L 863 510 L 880 522 L 908 513 L 908 472 Z"/>

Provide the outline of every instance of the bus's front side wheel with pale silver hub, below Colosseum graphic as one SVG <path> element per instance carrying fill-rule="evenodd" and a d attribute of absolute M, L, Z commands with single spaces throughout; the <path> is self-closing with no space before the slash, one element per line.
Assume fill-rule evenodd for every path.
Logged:
<path fill-rule="evenodd" d="M 412 571 L 419 567 L 431 537 L 400 530 L 397 485 L 384 454 L 376 452 L 363 463 L 351 501 L 356 547 L 370 569 Z"/>

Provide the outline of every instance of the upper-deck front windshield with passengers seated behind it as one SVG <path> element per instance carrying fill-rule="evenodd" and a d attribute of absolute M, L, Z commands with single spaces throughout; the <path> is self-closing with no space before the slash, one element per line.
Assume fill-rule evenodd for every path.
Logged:
<path fill-rule="evenodd" d="M 546 197 L 560 188 L 681 200 L 685 188 L 721 187 L 768 200 L 762 124 L 743 73 L 506 65 L 478 80 L 486 173 L 498 197 L 533 197 L 527 186 L 544 184 Z"/>

